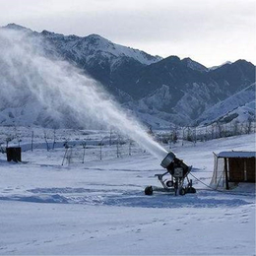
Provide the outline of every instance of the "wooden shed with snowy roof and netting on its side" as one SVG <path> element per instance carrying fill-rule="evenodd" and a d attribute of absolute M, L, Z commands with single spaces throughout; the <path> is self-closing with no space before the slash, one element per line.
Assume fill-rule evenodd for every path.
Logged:
<path fill-rule="evenodd" d="M 221 152 L 215 154 L 211 185 L 229 189 L 239 182 L 255 183 L 255 152 Z"/>

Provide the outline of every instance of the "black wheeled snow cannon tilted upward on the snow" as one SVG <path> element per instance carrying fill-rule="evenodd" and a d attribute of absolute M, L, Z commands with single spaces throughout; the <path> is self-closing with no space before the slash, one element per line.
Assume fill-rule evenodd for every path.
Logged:
<path fill-rule="evenodd" d="M 167 169 L 164 173 L 155 175 L 160 180 L 162 187 L 147 186 L 145 188 L 146 195 L 152 195 L 153 191 L 173 192 L 175 196 L 196 193 L 196 189 L 192 187 L 192 179 L 189 180 L 187 177 L 192 166 L 188 166 L 183 160 L 177 159 L 172 152 L 167 154 L 160 165 Z M 169 179 L 163 179 L 166 174 L 169 174 Z M 187 181 L 186 185 L 185 181 Z"/>

